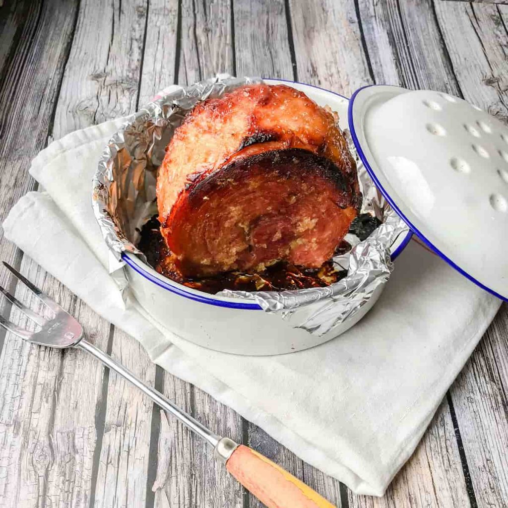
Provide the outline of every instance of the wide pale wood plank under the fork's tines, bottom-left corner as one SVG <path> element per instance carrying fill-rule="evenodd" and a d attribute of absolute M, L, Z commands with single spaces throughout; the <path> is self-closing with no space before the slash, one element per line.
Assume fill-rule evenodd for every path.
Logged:
<path fill-rule="evenodd" d="M 106 348 L 108 323 L 27 257 L 21 272 L 79 319 L 91 341 Z M 16 295 L 30 301 L 21 284 Z M 26 323 L 16 308 L 11 319 Z M 102 371 L 82 351 L 60 352 L 7 334 L 0 366 L 1 506 L 88 506 Z"/>

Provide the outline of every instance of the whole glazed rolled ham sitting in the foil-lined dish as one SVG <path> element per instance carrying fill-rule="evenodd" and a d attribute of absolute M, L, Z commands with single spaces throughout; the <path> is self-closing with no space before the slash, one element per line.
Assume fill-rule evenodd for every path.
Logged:
<path fill-rule="evenodd" d="M 157 179 L 161 233 L 188 277 L 319 267 L 361 203 L 333 114 L 285 85 L 247 85 L 186 116 Z"/>

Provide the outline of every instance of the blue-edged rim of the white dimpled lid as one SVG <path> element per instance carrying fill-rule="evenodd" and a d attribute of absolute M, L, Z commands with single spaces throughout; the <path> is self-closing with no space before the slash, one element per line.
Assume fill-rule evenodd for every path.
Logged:
<path fill-rule="evenodd" d="M 479 280 L 475 279 L 472 275 L 467 273 L 465 270 L 463 270 L 460 266 L 458 266 L 456 263 L 454 263 L 448 256 L 446 256 L 443 252 L 441 252 L 430 240 L 428 240 L 425 235 L 414 225 L 411 223 L 411 221 L 404 215 L 402 210 L 397 206 L 397 204 L 392 200 L 390 195 L 386 192 L 385 188 L 381 184 L 381 182 L 376 177 L 374 171 L 372 170 L 369 162 L 367 161 L 367 157 L 365 156 L 365 153 L 362 150 L 362 147 L 360 146 L 360 141 L 358 140 L 358 136 L 355 131 L 355 123 L 353 120 L 353 105 L 355 103 L 356 96 L 358 93 L 360 93 L 365 88 L 372 88 L 374 86 L 380 86 L 380 85 L 367 85 L 362 86 L 358 90 L 353 93 L 353 97 L 350 99 L 349 106 L 347 107 L 347 123 L 349 124 L 351 137 L 353 138 L 353 143 L 355 143 L 355 147 L 357 149 L 358 155 L 361 158 L 365 169 L 369 173 L 370 177 L 376 184 L 376 187 L 380 190 L 380 192 L 383 194 L 385 199 L 390 203 L 392 208 L 397 212 L 397 214 L 400 216 L 400 218 L 411 228 L 411 230 L 420 238 L 420 240 L 433 252 L 437 254 L 441 259 L 446 261 L 450 266 L 455 268 L 460 274 L 462 274 L 464 277 L 469 279 L 471 282 L 474 282 L 476 285 L 478 285 L 483 290 L 487 291 L 491 295 L 494 295 L 495 297 L 499 298 L 500 300 L 503 300 L 505 302 L 508 302 L 508 297 L 504 297 L 500 295 L 499 293 L 496 293 L 494 290 L 487 288 L 486 285 L 482 284 Z M 383 85 L 383 86 L 393 86 L 394 88 L 400 88 L 399 86 L 394 85 Z M 404 240 L 405 241 L 405 240 Z M 407 244 L 407 242 L 406 242 Z M 398 249 L 397 249 L 398 250 Z M 395 253 L 394 253 L 395 254 Z"/>

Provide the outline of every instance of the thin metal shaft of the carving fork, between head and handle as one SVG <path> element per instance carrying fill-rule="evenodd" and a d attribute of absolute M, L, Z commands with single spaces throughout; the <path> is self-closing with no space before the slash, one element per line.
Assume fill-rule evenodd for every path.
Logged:
<path fill-rule="evenodd" d="M 200 422 L 195 420 L 192 416 L 187 415 L 185 411 L 180 409 L 177 405 L 173 404 L 169 399 L 167 399 L 160 392 L 155 390 L 154 388 L 146 385 L 142 382 L 141 379 L 136 377 L 130 370 L 126 369 L 123 365 L 113 360 L 109 355 L 101 351 L 99 348 L 90 344 L 90 342 L 82 339 L 75 347 L 81 347 L 88 353 L 92 354 L 98 360 L 100 360 L 104 365 L 109 367 L 111 370 L 114 370 L 117 374 L 120 374 L 125 379 L 130 381 L 134 386 L 138 387 L 145 395 L 148 395 L 155 404 L 161 406 L 165 411 L 170 412 L 174 415 L 180 422 L 182 422 L 185 426 L 187 426 L 190 430 L 193 430 L 197 434 L 199 434 L 203 439 L 205 439 L 212 447 L 215 448 L 216 444 L 220 440 L 220 436 L 214 434 L 211 430 L 207 429 Z"/>

